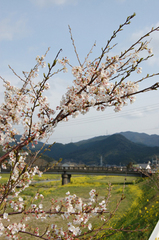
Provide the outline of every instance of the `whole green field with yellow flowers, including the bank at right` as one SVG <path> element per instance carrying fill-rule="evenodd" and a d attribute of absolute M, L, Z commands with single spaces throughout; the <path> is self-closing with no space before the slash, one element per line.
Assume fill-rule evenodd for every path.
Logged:
<path fill-rule="evenodd" d="M 99 199 L 107 197 L 108 183 L 112 184 L 111 198 L 108 202 L 107 209 L 110 213 L 116 208 L 121 196 L 123 200 L 115 213 L 115 215 L 105 225 L 105 230 L 100 231 L 97 239 L 142 239 L 147 240 L 154 229 L 158 221 L 159 213 L 159 195 L 155 189 L 154 184 L 149 179 L 141 179 L 135 177 L 117 177 L 117 176 L 72 176 L 71 183 L 62 186 L 60 175 L 43 174 L 41 178 L 35 176 L 32 185 L 26 189 L 21 196 L 25 199 L 26 204 L 32 202 L 35 193 L 39 192 L 44 195 L 44 209 L 48 209 L 51 206 L 51 200 L 62 200 L 65 197 L 65 193 L 70 191 L 71 194 L 76 194 L 81 197 L 83 201 L 87 202 L 89 199 L 89 191 L 96 189 L 99 194 Z M 2 181 L 7 180 L 7 174 L 2 175 Z M 45 182 L 47 180 L 47 182 Z M 125 184 L 124 184 L 125 182 Z M 110 214 L 108 214 L 109 217 Z M 13 217 L 13 221 L 17 221 L 19 217 Z M 32 221 L 32 219 L 31 219 Z M 96 228 L 99 227 L 100 222 L 97 218 L 91 219 L 92 225 Z M 66 222 L 61 220 L 60 216 L 49 218 L 47 220 L 38 221 L 40 229 L 44 229 L 49 224 L 57 224 L 59 227 L 65 228 Z M 28 222 L 29 224 L 29 222 Z M 32 227 L 37 226 L 37 222 L 34 220 L 31 222 Z M 111 235 L 112 231 L 108 228 L 121 229 L 144 229 L 143 232 L 137 231 L 135 233 L 127 233 L 117 231 L 114 235 Z M 110 235 L 110 236 L 108 236 Z M 22 239 L 34 239 L 31 237 L 21 236 Z"/>

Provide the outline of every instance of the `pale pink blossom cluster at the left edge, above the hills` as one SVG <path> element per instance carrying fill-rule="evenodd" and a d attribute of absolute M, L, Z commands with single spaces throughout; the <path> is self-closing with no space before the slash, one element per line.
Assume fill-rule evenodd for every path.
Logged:
<path fill-rule="evenodd" d="M 53 131 L 51 122 L 54 120 L 52 115 L 55 111 L 50 108 L 47 97 L 42 94 L 44 90 L 50 88 L 49 83 L 46 78 L 37 83 L 32 80 L 37 77 L 39 66 L 45 67 L 44 57 L 38 56 L 35 67 L 29 73 L 25 72 L 26 80 L 21 88 L 12 86 L 9 81 L 4 80 L 6 90 L 4 103 L 0 106 L 0 145 L 4 151 L 12 149 L 13 145 L 10 146 L 10 143 L 17 144 L 15 136 L 19 131 L 16 125 L 22 124 L 24 128 L 20 141 L 33 135 L 35 140 L 42 140 L 47 137 L 48 132 Z M 34 122 L 35 115 L 39 121 Z"/>

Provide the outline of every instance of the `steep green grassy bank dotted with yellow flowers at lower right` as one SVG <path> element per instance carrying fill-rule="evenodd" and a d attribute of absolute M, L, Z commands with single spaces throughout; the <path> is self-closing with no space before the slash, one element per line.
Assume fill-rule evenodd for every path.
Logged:
<path fill-rule="evenodd" d="M 149 185 L 149 180 L 145 180 L 137 185 L 129 186 L 130 195 L 133 194 L 135 199 L 129 206 L 127 212 L 123 211 L 123 214 L 117 218 L 114 223 L 114 227 L 120 229 L 122 227 L 129 228 L 131 226 L 135 229 L 144 229 L 144 232 L 137 231 L 136 233 L 116 233 L 111 237 L 103 239 L 142 239 L 147 240 L 153 231 L 156 223 L 158 222 L 159 212 L 159 195 L 156 189 Z M 127 198 L 128 196 L 126 194 Z"/>

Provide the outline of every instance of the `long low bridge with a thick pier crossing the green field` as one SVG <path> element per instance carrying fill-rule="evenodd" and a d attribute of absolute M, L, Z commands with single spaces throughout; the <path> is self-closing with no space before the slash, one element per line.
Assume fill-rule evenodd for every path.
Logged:
<path fill-rule="evenodd" d="M 62 185 L 70 183 L 72 174 L 82 174 L 82 175 L 113 175 L 113 176 L 135 176 L 135 177 L 146 177 L 149 171 L 141 170 L 127 167 L 62 167 L 54 166 L 47 172 L 52 174 L 61 174 Z"/>

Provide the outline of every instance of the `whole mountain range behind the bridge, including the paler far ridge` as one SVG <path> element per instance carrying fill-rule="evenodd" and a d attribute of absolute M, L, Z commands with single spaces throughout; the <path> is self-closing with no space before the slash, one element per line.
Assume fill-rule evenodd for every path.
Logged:
<path fill-rule="evenodd" d="M 19 139 L 20 136 L 17 136 Z M 42 147 L 38 142 L 35 151 Z M 49 145 L 45 145 L 48 148 Z M 0 155 L 3 153 L 0 152 Z M 86 165 L 127 165 L 145 163 L 159 156 L 159 135 L 148 135 L 137 132 L 120 132 L 103 135 L 75 143 L 55 143 L 49 151 L 45 151 L 43 159 L 47 162 L 59 160 Z"/>

